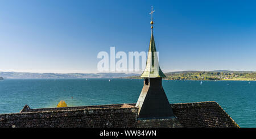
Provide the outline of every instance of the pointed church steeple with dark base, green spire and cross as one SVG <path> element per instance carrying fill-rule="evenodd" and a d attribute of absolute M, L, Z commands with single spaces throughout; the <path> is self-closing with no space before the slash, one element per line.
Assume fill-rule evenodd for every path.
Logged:
<path fill-rule="evenodd" d="M 153 14 L 151 10 L 150 14 Z M 135 107 L 138 107 L 138 119 L 173 119 L 171 105 L 163 90 L 162 78 L 166 77 L 159 67 L 158 54 L 156 53 L 153 36 L 153 20 L 151 15 L 151 39 L 147 55 L 146 68 L 141 77 L 144 78 L 144 86 L 139 95 Z"/>

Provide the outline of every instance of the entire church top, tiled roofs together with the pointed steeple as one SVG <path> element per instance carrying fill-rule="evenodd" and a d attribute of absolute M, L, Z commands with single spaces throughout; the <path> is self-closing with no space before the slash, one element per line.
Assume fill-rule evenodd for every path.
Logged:
<path fill-rule="evenodd" d="M 152 12 L 151 12 L 152 14 Z M 170 104 L 162 86 L 151 20 L 144 86 L 135 104 L 32 109 L 0 114 L 0 127 L 239 127 L 217 102 Z"/>

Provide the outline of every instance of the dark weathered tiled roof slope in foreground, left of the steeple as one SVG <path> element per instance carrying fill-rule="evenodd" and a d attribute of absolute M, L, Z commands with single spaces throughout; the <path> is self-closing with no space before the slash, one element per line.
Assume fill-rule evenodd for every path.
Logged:
<path fill-rule="evenodd" d="M 86 108 L 0 114 L 0 127 L 137 127 L 138 108 Z"/>

